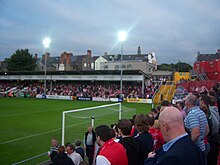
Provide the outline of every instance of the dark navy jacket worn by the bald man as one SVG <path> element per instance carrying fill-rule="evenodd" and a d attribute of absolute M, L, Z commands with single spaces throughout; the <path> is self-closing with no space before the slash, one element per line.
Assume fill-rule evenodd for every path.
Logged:
<path fill-rule="evenodd" d="M 167 152 L 163 147 L 156 151 L 155 158 L 147 158 L 144 165 L 204 165 L 200 148 L 189 136 L 176 141 Z"/>

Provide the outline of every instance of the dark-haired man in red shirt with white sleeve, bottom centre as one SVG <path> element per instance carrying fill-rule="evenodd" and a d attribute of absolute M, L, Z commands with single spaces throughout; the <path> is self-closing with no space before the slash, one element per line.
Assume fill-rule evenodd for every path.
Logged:
<path fill-rule="evenodd" d="M 128 165 L 125 148 L 111 138 L 110 128 L 100 125 L 95 131 L 100 145 L 96 165 Z"/>

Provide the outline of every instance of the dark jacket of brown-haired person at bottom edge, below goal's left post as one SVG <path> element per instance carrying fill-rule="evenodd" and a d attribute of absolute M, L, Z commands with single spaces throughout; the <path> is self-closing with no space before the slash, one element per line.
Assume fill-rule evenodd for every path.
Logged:
<path fill-rule="evenodd" d="M 74 165 L 74 163 L 66 153 L 58 153 L 53 160 L 53 165 Z"/>

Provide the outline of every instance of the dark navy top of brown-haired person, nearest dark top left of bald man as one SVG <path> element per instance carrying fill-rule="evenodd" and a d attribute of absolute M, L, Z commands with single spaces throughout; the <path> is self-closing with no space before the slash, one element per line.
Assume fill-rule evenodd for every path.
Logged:
<path fill-rule="evenodd" d="M 139 147 L 138 163 L 143 165 L 150 151 L 153 151 L 153 138 L 149 132 L 143 132 L 135 137 L 135 141 Z"/>

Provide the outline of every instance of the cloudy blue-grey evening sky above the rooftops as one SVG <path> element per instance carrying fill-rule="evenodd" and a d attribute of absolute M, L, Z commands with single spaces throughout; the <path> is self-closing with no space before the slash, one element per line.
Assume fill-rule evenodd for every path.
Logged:
<path fill-rule="evenodd" d="M 220 49 L 219 0 L 0 0 L 0 60 L 17 49 L 39 57 L 156 54 L 161 63 L 192 64 L 198 51 Z M 51 39 L 44 50 L 43 39 Z"/>

